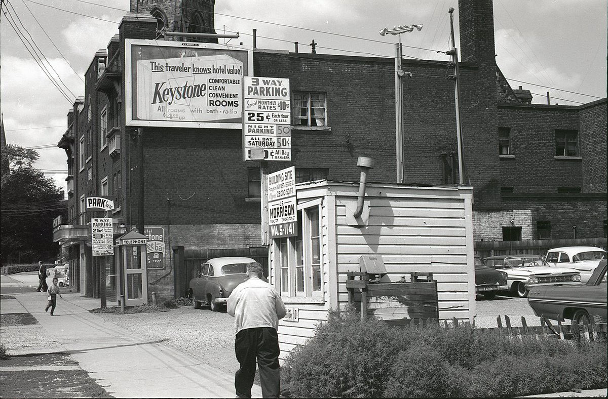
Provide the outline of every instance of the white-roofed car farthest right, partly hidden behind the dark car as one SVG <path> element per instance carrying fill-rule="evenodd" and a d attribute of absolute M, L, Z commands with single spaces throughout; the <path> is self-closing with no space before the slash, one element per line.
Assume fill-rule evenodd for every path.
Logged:
<path fill-rule="evenodd" d="M 545 261 L 551 266 L 572 267 L 581 272 L 581 282 L 587 282 L 606 251 L 596 247 L 561 247 L 547 251 Z"/>

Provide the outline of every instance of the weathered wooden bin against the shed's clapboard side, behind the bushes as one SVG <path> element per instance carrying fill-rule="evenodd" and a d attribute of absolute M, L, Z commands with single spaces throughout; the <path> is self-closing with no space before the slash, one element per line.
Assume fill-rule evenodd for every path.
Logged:
<path fill-rule="evenodd" d="M 355 276 L 361 280 L 354 280 Z M 348 273 L 346 282 L 348 302 L 354 304 L 354 292 L 360 289 L 362 320 L 375 316 L 392 326 L 409 325 L 411 319 L 437 320 L 437 281 L 432 280 L 432 275 L 428 277 L 423 282 L 370 284 L 368 273 L 353 271 Z"/>

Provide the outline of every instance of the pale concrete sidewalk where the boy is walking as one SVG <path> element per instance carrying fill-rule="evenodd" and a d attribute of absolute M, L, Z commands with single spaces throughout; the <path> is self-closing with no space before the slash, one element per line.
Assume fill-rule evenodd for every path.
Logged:
<path fill-rule="evenodd" d="M 2 276 L 2 287 L 28 278 Z M 37 287 L 37 276 L 36 287 Z M 15 286 L 15 285 L 11 285 Z M 100 386 L 117 398 L 227 398 L 235 397 L 234 376 L 162 344 L 106 322 L 90 309 L 99 307 L 99 299 L 77 293 L 62 293 L 57 298 L 55 316 L 44 312 L 46 298 L 38 292 L 10 294 L 16 300 L 2 300 L 1 313 L 30 313 L 44 332 L 61 342 L 60 347 L 40 346 L 29 353 L 69 352 L 80 367 Z M 62 289 L 65 290 L 65 289 Z M 170 313 L 167 313 L 170 317 Z M 254 397 L 261 397 L 254 385 Z"/>

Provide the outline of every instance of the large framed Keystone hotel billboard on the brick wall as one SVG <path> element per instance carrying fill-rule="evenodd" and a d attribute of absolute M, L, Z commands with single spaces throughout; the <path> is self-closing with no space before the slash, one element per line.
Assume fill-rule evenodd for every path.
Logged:
<path fill-rule="evenodd" d="M 251 50 L 140 39 L 125 46 L 128 126 L 242 128 Z"/>

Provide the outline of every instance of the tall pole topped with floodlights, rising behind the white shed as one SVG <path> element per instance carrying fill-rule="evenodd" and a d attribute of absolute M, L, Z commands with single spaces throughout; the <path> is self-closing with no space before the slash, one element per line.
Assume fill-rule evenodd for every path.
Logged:
<path fill-rule="evenodd" d="M 422 29 L 422 24 L 411 26 L 393 27 L 392 30 L 387 28 L 380 30 L 380 36 L 387 33 L 390 35 L 399 35 L 399 42 L 395 43 L 395 134 L 396 134 L 396 155 L 397 155 L 397 183 L 403 183 L 403 91 L 401 86 L 401 77 L 408 75 L 412 77 L 412 73 L 403 72 L 401 69 L 401 61 L 403 58 L 403 48 L 401 46 L 401 33 L 412 32 L 414 28 L 418 32 Z"/>

